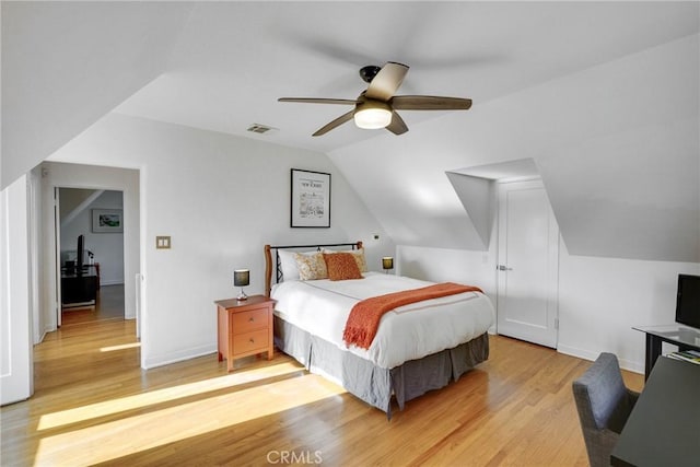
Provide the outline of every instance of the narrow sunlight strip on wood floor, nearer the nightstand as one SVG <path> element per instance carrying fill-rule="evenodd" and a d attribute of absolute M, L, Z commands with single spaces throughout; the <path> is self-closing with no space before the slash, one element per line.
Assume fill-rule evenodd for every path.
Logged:
<path fill-rule="evenodd" d="M 201 395 L 213 390 L 224 389 L 226 387 L 234 387 L 301 371 L 303 371 L 303 369 L 299 365 L 281 363 L 249 371 L 238 371 L 225 376 L 198 381 L 196 383 L 183 384 L 164 389 L 151 390 L 133 396 L 106 400 L 104 402 L 81 406 L 74 409 L 42 416 L 37 430 L 49 430 L 65 424 L 96 419 L 127 410 L 152 406 L 154 404 L 167 402 L 171 400 Z"/>

